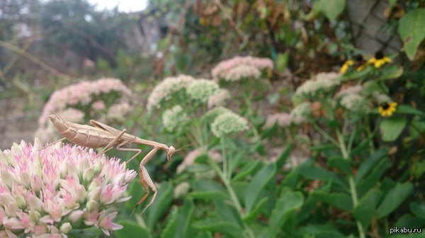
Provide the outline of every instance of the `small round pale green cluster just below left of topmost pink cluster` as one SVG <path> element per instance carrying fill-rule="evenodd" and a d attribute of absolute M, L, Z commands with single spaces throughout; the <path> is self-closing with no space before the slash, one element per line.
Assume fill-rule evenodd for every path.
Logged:
<path fill-rule="evenodd" d="M 214 81 L 199 79 L 188 85 L 186 93 L 192 100 L 207 102 L 208 97 L 214 95 L 219 90 L 219 86 Z"/>

